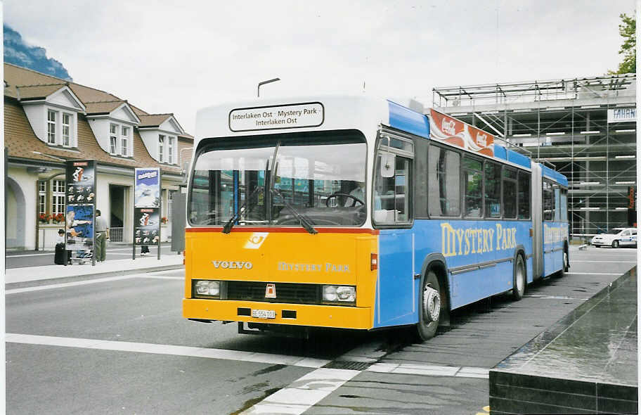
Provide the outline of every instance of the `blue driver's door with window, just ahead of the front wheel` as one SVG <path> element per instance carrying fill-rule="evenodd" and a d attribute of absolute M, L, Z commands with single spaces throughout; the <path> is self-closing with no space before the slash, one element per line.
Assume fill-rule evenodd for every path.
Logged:
<path fill-rule="evenodd" d="M 374 326 L 416 322 L 413 143 L 382 136 L 374 166 L 373 224 L 380 228 Z M 420 271 L 418 271 L 420 272 Z"/>

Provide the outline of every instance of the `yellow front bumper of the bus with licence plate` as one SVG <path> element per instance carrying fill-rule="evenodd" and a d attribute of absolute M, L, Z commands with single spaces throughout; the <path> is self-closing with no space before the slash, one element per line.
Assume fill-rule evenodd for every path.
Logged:
<path fill-rule="evenodd" d="M 270 317 L 252 317 L 252 310 L 264 310 L 258 313 Z M 272 311 L 273 318 L 271 318 Z M 373 324 L 372 309 L 370 307 L 203 300 L 200 298 L 183 298 L 183 317 L 186 319 L 245 321 L 365 330 L 372 328 Z"/>

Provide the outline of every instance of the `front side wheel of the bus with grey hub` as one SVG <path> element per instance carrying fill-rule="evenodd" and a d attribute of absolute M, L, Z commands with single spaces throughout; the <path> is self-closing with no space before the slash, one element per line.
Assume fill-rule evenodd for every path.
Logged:
<path fill-rule="evenodd" d="M 443 313 L 441 305 L 441 285 L 433 270 L 429 270 L 422 278 L 421 290 L 419 293 L 419 312 L 416 333 L 420 340 L 429 340 L 436 335 L 436 328 L 439 328 L 439 320 Z"/>

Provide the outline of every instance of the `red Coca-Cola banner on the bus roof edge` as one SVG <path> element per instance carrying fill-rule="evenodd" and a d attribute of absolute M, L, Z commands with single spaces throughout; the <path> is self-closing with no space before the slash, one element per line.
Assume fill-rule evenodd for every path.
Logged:
<path fill-rule="evenodd" d="M 484 155 L 494 156 L 494 136 L 465 122 L 429 110 L 429 136 Z"/>

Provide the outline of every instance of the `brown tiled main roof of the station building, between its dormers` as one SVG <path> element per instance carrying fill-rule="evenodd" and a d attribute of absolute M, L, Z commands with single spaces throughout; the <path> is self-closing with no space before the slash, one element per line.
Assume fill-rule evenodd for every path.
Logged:
<path fill-rule="evenodd" d="M 58 146 L 48 146 L 37 138 L 27 120 L 25 110 L 18 101 L 13 98 L 4 98 L 4 143 L 8 148 L 9 158 L 41 160 L 46 162 L 54 161 L 44 154 L 53 155 L 62 159 L 94 159 L 101 165 L 113 165 L 119 167 L 161 167 L 163 172 L 178 174 L 179 166 L 170 166 L 154 160 L 143 143 L 140 134 L 134 129 L 134 159 L 114 157 L 104 151 L 98 145 L 96 137 L 93 136 L 91 127 L 82 114 L 78 115 L 78 148 L 63 149 Z M 189 148 L 192 143 L 179 140 L 179 151 L 182 148 Z M 37 151 L 38 153 L 34 153 Z M 190 153 L 183 151 L 183 160 L 188 161 Z"/>

